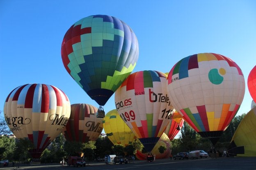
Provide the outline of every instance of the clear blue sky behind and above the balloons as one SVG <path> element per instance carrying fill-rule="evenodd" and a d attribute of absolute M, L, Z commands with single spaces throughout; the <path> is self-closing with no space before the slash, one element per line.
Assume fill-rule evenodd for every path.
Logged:
<path fill-rule="evenodd" d="M 249 112 L 247 78 L 256 65 L 255 0 L 0 0 L 0 110 L 14 88 L 43 83 L 62 89 L 71 104 L 98 107 L 66 72 L 61 44 L 81 18 L 104 14 L 135 32 L 139 59 L 133 72 L 169 72 L 192 54 L 212 52 L 234 60 L 245 77 L 237 115 Z M 104 106 L 115 108 L 114 95 Z"/>

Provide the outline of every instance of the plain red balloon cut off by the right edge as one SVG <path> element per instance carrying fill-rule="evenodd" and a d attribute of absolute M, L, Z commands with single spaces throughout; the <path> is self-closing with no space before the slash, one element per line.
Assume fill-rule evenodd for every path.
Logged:
<path fill-rule="evenodd" d="M 247 85 L 252 99 L 256 102 L 256 65 L 251 69 L 247 79 Z"/>

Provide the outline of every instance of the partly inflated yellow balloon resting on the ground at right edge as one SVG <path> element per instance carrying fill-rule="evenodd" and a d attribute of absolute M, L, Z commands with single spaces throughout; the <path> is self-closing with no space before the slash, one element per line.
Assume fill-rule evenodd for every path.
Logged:
<path fill-rule="evenodd" d="M 256 107 L 242 119 L 229 145 L 228 153 L 238 157 L 256 157 Z"/>

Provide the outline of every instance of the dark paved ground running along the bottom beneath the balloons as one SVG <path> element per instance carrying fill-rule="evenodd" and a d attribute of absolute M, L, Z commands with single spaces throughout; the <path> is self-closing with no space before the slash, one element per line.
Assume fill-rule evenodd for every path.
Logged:
<path fill-rule="evenodd" d="M 13 170 L 14 167 L 0 167 Z M 59 164 L 21 165 L 18 170 L 256 170 L 256 157 L 202 158 L 188 160 L 156 159 L 155 162 L 135 161 L 128 164 L 89 163 L 86 167 L 67 167 Z"/>

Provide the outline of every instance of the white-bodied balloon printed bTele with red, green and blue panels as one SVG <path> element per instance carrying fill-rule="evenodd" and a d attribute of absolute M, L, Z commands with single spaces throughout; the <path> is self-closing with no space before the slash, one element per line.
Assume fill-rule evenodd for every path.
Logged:
<path fill-rule="evenodd" d="M 150 152 L 171 121 L 166 75 L 157 71 L 130 74 L 115 92 L 116 109 L 123 121 Z"/>

